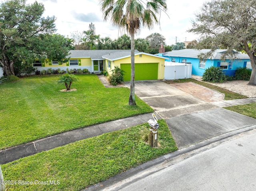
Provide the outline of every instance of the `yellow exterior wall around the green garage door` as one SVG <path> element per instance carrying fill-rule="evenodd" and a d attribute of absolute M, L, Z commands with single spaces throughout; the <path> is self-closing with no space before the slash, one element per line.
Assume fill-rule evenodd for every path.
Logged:
<path fill-rule="evenodd" d="M 134 57 L 135 63 L 158 63 L 158 79 L 164 79 L 164 58 L 158 58 L 150 55 L 142 54 L 142 57 L 140 55 L 136 55 Z M 106 68 L 104 68 L 106 71 L 108 71 L 109 74 L 114 67 L 120 67 L 121 64 L 128 64 L 131 63 L 131 57 L 118 59 L 111 62 L 111 69 L 108 69 L 108 61 L 106 60 Z"/>

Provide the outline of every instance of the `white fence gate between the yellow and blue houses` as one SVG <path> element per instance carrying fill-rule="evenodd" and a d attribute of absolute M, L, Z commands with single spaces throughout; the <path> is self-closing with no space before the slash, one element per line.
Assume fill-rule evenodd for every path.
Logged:
<path fill-rule="evenodd" d="M 166 62 L 164 63 L 164 79 L 175 80 L 191 78 L 192 64 Z"/>

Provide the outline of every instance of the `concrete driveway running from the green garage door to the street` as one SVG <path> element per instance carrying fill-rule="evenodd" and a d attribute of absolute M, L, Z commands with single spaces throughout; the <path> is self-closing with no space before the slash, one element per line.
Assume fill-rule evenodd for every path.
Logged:
<path fill-rule="evenodd" d="M 130 87 L 130 82 L 124 83 Z M 202 94 L 201 87 L 188 84 L 194 93 Z M 183 85 L 183 89 L 186 89 Z M 204 97 L 218 92 L 205 88 Z M 199 92 L 199 93 L 198 93 Z M 196 144 L 202 140 L 256 125 L 256 120 L 198 98 L 162 81 L 136 81 L 135 94 L 151 106 L 156 114 L 166 120 L 178 148 Z"/>

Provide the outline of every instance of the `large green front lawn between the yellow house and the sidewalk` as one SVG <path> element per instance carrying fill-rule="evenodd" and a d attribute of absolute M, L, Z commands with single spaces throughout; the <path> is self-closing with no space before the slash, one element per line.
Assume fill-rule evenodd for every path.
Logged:
<path fill-rule="evenodd" d="M 72 92 L 60 92 L 58 75 L 22 78 L 0 84 L 0 149 L 61 132 L 153 112 L 128 88 L 105 88 L 96 75 L 76 75 Z"/>

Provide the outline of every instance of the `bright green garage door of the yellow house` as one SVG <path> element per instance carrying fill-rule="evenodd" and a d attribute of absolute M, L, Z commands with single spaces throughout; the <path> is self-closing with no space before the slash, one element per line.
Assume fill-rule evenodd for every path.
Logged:
<path fill-rule="evenodd" d="M 131 64 L 121 64 L 121 69 L 125 71 L 124 81 L 131 80 Z M 135 80 L 157 80 L 158 63 L 135 63 Z"/>

